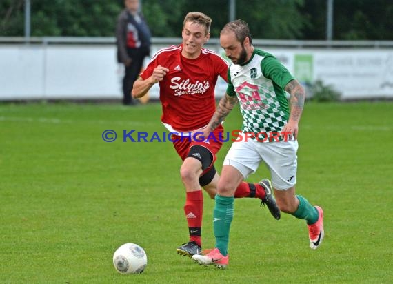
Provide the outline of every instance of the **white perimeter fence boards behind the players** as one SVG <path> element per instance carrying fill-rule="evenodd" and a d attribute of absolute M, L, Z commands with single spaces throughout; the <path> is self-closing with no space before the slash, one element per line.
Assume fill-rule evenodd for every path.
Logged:
<path fill-rule="evenodd" d="M 393 42 L 265 41 L 254 45 L 278 57 L 302 83 L 321 79 L 342 99 L 393 98 Z M 181 39 L 153 39 L 152 54 Z M 207 48 L 222 54 L 218 39 Z M 121 99 L 122 65 L 113 38 L 0 38 L 0 101 Z M 219 81 L 216 94 L 225 91 Z M 158 85 L 150 91 L 158 98 Z"/>

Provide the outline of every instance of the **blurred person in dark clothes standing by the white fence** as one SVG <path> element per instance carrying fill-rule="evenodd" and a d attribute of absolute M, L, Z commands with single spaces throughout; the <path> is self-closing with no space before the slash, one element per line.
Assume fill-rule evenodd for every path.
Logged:
<path fill-rule="evenodd" d="M 125 9 L 117 18 L 117 61 L 125 67 L 123 104 L 134 105 L 135 101 L 131 97 L 132 85 L 141 72 L 143 60 L 150 55 L 151 33 L 139 10 L 139 0 L 124 0 L 124 6 Z"/>

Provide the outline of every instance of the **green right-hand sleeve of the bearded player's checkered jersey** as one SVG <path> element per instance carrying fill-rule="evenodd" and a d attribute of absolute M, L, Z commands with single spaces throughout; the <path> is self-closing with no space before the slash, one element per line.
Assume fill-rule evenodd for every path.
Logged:
<path fill-rule="evenodd" d="M 263 76 L 272 80 L 276 85 L 279 85 L 283 90 L 285 86 L 295 79 L 292 74 L 276 57 L 270 56 L 265 57 L 261 61 L 261 69 L 263 70 Z"/>

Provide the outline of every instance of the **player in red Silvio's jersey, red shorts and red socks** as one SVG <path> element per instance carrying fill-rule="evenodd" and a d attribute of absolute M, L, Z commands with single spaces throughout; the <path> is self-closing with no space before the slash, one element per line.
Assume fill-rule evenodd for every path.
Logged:
<path fill-rule="evenodd" d="M 159 83 L 161 121 L 176 133 L 172 134 L 172 141 L 183 161 L 180 174 L 186 192 L 184 213 L 190 239 L 177 247 L 177 252 L 190 257 L 201 252 L 201 187 L 214 199 L 219 181 L 214 161 L 223 140 L 222 125 L 212 132 L 214 139 L 192 141 L 185 137 L 208 125 L 216 110 L 214 88 L 218 77 L 228 82 L 228 63 L 216 52 L 203 48 L 210 38 L 211 23 L 212 19 L 201 12 L 188 13 L 183 22 L 183 43 L 154 54 L 132 89 L 132 97 L 140 98 Z M 281 212 L 271 192 L 270 181 L 263 179 L 256 184 L 242 182 L 234 196 L 259 198 L 274 218 L 280 219 Z"/>

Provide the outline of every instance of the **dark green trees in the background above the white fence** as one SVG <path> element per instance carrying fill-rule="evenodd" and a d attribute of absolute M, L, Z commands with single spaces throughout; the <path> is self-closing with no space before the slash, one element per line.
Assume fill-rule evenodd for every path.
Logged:
<path fill-rule="evenodd" d="M 23 37 L 25 0 L 0 1 L 0 37 Z M 30 0 L 32 37 L 114 37 L 123 0 Z M 181 37 L 187 12 L 212 19 L 219 37 L 229 19 L 228 0 L 141 0 L 153 37 Z M 326 0 L 236 0 L 236 19 L 254 39 L 326 39 Z M 334 40 L 393 40 L 393 1 L 335 0 Z"/>

